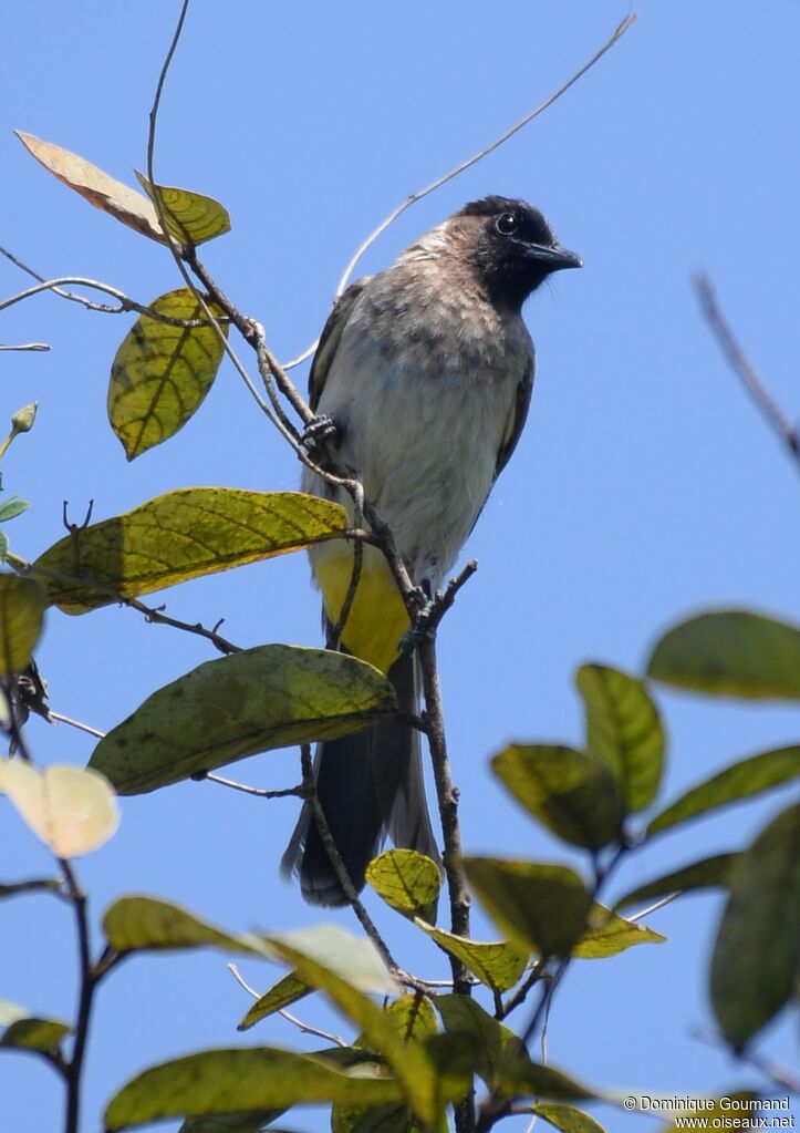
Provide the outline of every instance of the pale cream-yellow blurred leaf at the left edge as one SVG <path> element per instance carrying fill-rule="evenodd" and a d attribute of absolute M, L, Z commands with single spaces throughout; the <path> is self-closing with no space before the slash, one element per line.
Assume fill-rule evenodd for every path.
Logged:
<path fill-rule="evenodd" d="M 91 853 L 119 826 L 114 792 L 95 770 L 53 764 L 40 772 L 21 759 L 3 759 L 0 791 L 58 858 Z"/>

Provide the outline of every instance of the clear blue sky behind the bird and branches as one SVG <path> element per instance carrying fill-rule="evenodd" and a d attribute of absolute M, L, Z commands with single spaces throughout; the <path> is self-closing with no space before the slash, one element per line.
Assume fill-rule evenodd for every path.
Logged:
<path fill-rule="evenodd" d="M 40 272 L 111 282 L 147 301 L 177 282 L 170 257 L 50 178 L 11 135 L 29 130 L 131 180 L 144 168 L 147 111 L 177 3 L 6 5 L 0 75 L 0 242 Z M 463 836 L 472 852 L 568 854 L 501 792 L 488 759 L 508 740 L 579 742 L 573 672 L 584 661 L 642 668 L 671 622 L 708 606 L 799 616 L 797 467 L 719 356 L 690 278 L 713 276 L 732 323 L 793 416 L 800 235 L 797 42 L 791 0 L 664 5 L 501 151 L 406 212 L 362 271 L 388 264 L 465 201 L 521 196 L 551 219 L 585 269 L 557 276 L 526 308 L 539 353 L 531 417 L 465 554 L 480 562 L 440 637 Z M 222 199 L 233 231 L 204 259 L 239 307 L 291 357 L 319 332 L 342 269 L 405 195 L 489 142 L 558 86 L 626 9 L 609 0 L 510 0 L 500 9 L 411 0 L 227 6 L 196 0 L 170 75 L 156 176 Z M 0 263 L 2 295 L 25 286 Z M 37 400 L 34 432 L 5 461 L 5 487 L 32 509 L 9 534 L 34 557 L 61 535 L 61 501 L 104 518 L 167 488 L 292 488 L 291 453 L 227 365 L 171 443 L 127 465 L 105 416 L 111 359 L 130 318 L 53 297 L 5 314 L 0 412 Z M 189 621 L 225 616 L 242 645 L 317 644 L 317 599 L 291 555 L 165 596 Z M 40 664 L 52 706 L 109 729 L 154 689 L 208 659 L 199 640 L 130 611 L 50 616 Z M 797 710 L 703 701 L 657 690 L 670 735 L 664 798 L 717 767 L 797 741 Z M 42 763 L 81 764 L 87 738 L 32 723 Z M 296 755 L 268 753 L 235 775 L 296 781 Z M 621 884 L 747 844 L 769 800 L 687 827 L 638 855 Z M 195 783 L 124 800 L 106 849 L 79 863 L 92 915 L 145 892 L 232 929 L 318 920 L 277 877 L 293 802 L 263 803 Z M 0 804 L 3 874 L 46 871 L 43 849 Z M 669 937 L 605 962 L 576 963 L 559 993 L 550 1057 L 590 1082 L 714 1091 L 755 1075 L 693 1038 L 711 1020 L 705 969 L 721 910 L 694 897 L 652 919 Z M 343 921 L 350 919 L 343 915 Z M 436 973 L 435 951 L 390 923 L 406 966 Z M 475 934 L 492 930 L 480 915 Z M 70 1017 L 75 947 L 66 909 L 44 897 L 0 908 L 0 996 Z M 266 988 L 275 971 L 243 965 Z M 145 1065 L 239 1041 L 247 1008 L 214 954 L 136 959 L 101 993 L 84 1128 Z M 320 1008 L 307 1015 L 327 1020 Z M 341 1024 L 338 1024 L 341 1025 Z M 249 1041 L 302 1046 L 281 1020 Z M 766 1049 L 790 1060 L 789 1028 Z M 58 1126 L 61 1087 L 34 1059 L 0 1062 L 3 1125 Z M 607 1115 L 611 1130 L 655 1127 Z M 321 1128 L 317 1114 L 291 1127 Z M 172 1126 L 164 1126 L 171 1128 Z"/>

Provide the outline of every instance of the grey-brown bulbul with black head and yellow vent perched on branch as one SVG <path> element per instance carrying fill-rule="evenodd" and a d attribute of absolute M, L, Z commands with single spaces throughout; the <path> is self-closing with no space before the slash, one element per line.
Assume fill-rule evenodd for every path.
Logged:
<path fill-rule="evenodd" d="M 527 416 L 535 352 L 525 299 L 552 272 L 580 267 L 524 201 L 465 205 L 353 283 L 335 304 L 310 374 L 310 403 L 336 428 L 343 459 L 389 523 L 414 581 L 441 586 L 508 462 Z M 304 492 L 350 499 L 304 470 Z M 311 552 L 324 617 L 336 624 L 353 571 L 344 540 Z M 401 709 L 419 712 L 408 617 L 384 556 L 363 548 L 342 646 L 387 674 Z M 388 833 L 439 860 L 425 806 L 420 735 L 395 718 L 320 743 L 317 793 L 356 889 Z M 306 803 L 282 863 L 311 904 L 346 903 Z"/>

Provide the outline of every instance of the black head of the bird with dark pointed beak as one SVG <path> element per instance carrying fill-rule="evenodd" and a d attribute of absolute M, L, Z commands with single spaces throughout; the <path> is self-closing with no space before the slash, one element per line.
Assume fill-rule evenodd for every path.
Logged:
<path fill-rule="evenodd" d="M 484 197 L 456 215 L 478 223 L 474 264 L 493 303 L 519 307 L 552 272 L 583 266 L 580 256 L 562 248 L 547 218 L 525 201 Z"/>

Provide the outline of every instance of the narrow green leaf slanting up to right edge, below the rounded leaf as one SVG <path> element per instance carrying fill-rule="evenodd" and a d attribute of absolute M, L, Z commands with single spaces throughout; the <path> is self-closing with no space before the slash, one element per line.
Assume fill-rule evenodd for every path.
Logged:
<path fill-rule="evenodd" d="M 677 799 L 650 823 L 653 835 L 740 799 L 749 799 L 800 776 L 800 747 L 764 751 L 725 767 Z"/>

